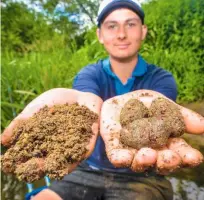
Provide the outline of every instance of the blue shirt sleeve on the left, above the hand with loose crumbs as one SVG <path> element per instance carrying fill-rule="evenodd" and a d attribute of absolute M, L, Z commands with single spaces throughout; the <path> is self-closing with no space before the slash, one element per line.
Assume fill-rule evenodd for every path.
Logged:
<path fill-rule="evenodd" d="M 82 69 L 74 78 L 72 88 L 81 92 L 91 92 L 100 96 L 96 71 L 92 67 Z"/>

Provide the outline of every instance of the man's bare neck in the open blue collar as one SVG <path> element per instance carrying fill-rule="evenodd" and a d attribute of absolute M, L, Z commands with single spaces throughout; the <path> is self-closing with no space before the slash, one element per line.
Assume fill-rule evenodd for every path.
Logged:
<path fill-rule="evenodd" d="M 138 56 L 135 56 L 129 60 L 117 60 L 110 57 L 111 69 L 123 84 L 125 84 L 128 78 L 131 77 L 137 62 Z"/>

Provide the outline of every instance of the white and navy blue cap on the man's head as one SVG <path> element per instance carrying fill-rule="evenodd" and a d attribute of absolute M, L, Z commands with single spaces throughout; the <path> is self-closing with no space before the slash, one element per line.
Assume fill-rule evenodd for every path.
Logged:
<path fill-rule="evenodd" d="M 104 0 L 100 4 L 98 11 L 98 27 L 100 27 L 101 23 L 111 12 L 119 8 L 128 8 L 132 10 L 140 17 L 142 24 L 144 24 L 145 14 L 137 0 Z"/>

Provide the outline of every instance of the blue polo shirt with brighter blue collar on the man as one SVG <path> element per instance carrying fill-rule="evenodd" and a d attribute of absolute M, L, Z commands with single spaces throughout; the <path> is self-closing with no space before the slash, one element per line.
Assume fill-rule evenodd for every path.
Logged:
<path fill-rule="evenodd" d="M 137 65 L 126 84 L 123 84 L 112 72 L 109 59 L 105 59 L 84 67 L 76 75 L 73 89 L 91 92 L 98 95 L 103 101 L 116 95 L 140 89 L 160 92 L 173 101 L 176 100 L 177 96 L 177 87 L 172 74 L 160 67 L 148 64 L 141 56 L 138 56 Z M 85 162 L 105 171 L 132 173 L 129 168 L 115 168 L 110 163 L 101 136 L 97 139 L 93 153 Z"/>

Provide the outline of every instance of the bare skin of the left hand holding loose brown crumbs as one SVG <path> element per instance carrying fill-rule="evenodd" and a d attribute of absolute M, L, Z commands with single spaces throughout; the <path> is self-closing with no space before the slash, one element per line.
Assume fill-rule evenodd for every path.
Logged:
<path fill-rule="evenodd" d="M 12 132 L 14 128 L 17 126 L 19 121 L 27 120 L 28 118 L 32 117 L 34 113 L 38 112 L 41 108 L 45 105 L 48 107 L 59 105 L 59 104 L 73 104 L 78 103 L 79 105 L 85 105 L 91 111 L 95 112 L 100 116 L 100 109 L 103 101 L 96 95 L 92 93 L 85 93 L 79 92 L 72 89 L 65 89 L 65 88 L 57 88 L 51 89 L 39 97 L 34 99 L 30 102 L 25 109 L 9 124 L 9 126 L 4 130 L 1 135 L 1 142 L 4 146 L 9 146 L 12 140 Z M 94 133 L 90 139 L 89 144 L 87 145 L 86 149 L 88 149 L 86 155 L 84 156 L 86 159 L 89 157 L 95 147 L 95 142 L 98 136 L 99 130 L 99 122 L 96 122 L 92 125 L 92 132 Z M 44 167 L 44 159 L 42 158 L 31 158 L 29 161 L 30 163 L 36 163 L 39 168 L 43 171 Z M 67 172 L 71 172 L 76 168 L 79 163 L 70 164 L 67 166 Z"/>

